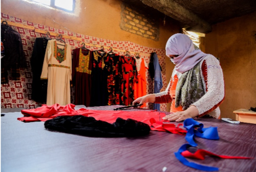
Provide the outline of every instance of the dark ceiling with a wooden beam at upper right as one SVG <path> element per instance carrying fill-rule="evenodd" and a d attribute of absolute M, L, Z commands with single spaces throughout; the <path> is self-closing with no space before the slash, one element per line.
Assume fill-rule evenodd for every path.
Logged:
<path fill-rule="evenodd" d="M 122 0 L 177 20 L 182 28 L 210 33 L 211 25 L 256 11 L 256 0 Z"/>

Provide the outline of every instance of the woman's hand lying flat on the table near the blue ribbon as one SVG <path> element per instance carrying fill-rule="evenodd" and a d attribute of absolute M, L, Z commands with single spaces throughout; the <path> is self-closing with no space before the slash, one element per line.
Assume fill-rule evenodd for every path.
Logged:
<path fill-rule="evenodd" d="M 187 118 L 197 117 L 197 115 L 198 115 L 197 107 L 192 105 L 187 110 L 166 115 L 165 117 L 163 117 L 163 120 L 179 122 L 179 121 L 184 121 Z"/>

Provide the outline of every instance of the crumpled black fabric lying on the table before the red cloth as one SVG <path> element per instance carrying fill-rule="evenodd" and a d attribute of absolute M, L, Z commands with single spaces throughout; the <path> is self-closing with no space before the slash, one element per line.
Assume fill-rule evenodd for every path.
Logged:
<path fill-rule="evenodd" d="M 150 133 L 150 126 L 140 121 L 117 118 L 113 124 L 93 117 L 75 115 L 45 121 L 45 128 L 90 137 L 135 137 Z"/>

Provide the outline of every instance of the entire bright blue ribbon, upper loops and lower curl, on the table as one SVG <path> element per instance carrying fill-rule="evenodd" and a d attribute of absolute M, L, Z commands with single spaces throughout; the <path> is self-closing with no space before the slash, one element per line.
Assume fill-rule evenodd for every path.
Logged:
<path fill-rule="evenodd" d="M 201 137 L 204 139 L 218 140 L 220 139 L 217 128 L 209 127 L 203 128 L 203 124 L 198 121 L 188 118 L 184 121 L 184 128 L 187 129 L 186 140 L 189 144 L 182 145 L 177 152 L 174 152 L 175 157 L 184 165 L 195 168 L 197 170 L 204 171 L 218 171 L 219 169 L 213 166 L 203 166 L 197 163 L 189 162 L 185 157 L 181 155 L 182 152 L 187 150 L 189 147 L 197 146 L 194 141 L 194 137 Z"/>

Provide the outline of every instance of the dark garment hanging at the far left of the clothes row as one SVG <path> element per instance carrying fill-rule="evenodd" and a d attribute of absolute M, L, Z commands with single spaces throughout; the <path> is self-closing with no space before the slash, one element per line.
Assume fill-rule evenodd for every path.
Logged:
<path fill-rule="evenodd" d="M 1 84 L 7 83 L 7 70 L 11 69 L 11 80 L 20 80 L 20 68 L 25 68 L 26 60 L 20 34 L 9 25 L 1 24 L 1 41 L 4 57 L 1 58 Z"/>

